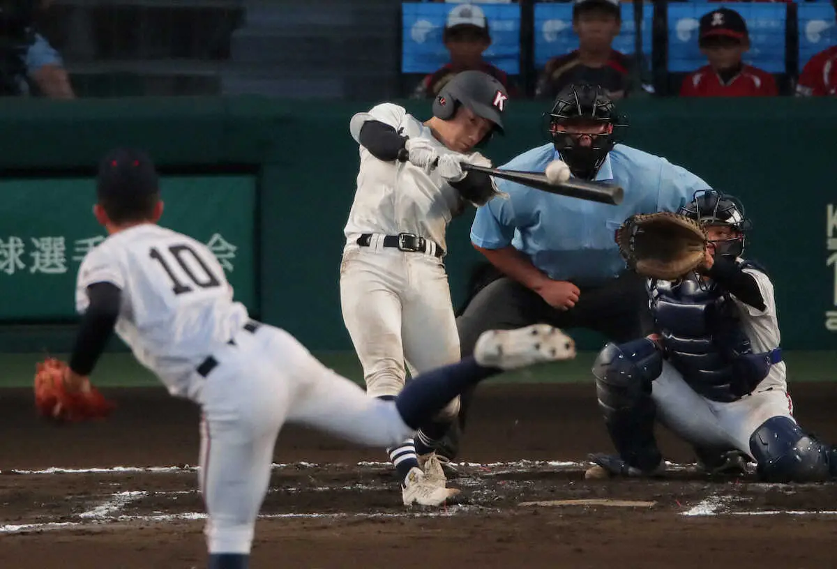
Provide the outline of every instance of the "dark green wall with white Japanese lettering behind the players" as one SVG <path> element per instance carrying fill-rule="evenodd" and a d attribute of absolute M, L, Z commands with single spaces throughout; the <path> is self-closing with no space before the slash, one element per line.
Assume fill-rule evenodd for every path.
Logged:
<path fill-rule="evenodd" d="M 102 232 L 90 214 L 98 158 L 146 148 L 160 165 L 162 224 L 218 255 L 236 294 L 264 321 L 315 350 L 350 349 L 338 268 L 352 203 L 352 113 L 368 103 L 121 99 L 4 103 L 0 108 L 0 351 L 65 350 L 74 279 Z M 428 115 L 423 101 L 404 103 Z M 545 141 L 543 105 L 509 105 L 498 164 Z M 792 350 L 837 349 L 837 105 L 832 100 L 625 102 L 624 141 L 736 193 L 754 221 L 748 256 L 773 276 Z M 454 302 L 480 261 L 468 232 L 449 230 Z M 579 334 L 583 348 L 601 341 Z M 115 343 L 118 347 L 118 343 Z"/>

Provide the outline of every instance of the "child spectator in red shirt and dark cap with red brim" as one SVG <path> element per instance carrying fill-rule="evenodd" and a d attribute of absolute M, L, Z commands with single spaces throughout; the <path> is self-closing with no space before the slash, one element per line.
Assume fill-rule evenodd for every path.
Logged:
<path fill-rule="evenodd" d="M 698 42 L 708 65 L 686 75 L 682 97 L 757 97 L 778 95 L 776 79 L 744 64 L 750 49 L 747 23 L 730 8 L 718 8 L 701 18 Z"/>

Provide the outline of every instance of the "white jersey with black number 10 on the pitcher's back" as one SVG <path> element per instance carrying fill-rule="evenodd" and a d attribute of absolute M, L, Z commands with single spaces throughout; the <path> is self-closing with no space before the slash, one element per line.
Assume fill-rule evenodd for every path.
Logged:
<path fill-rule="evenodd" d="M 195 368 L 248 319 L 212 251 L 153 224 L 114 233 L 85 256 L 79 312 L 87 310 L 87 287 L 99 282 L 122 290 L 116 333 L 172 395 L 187 396 Z"/>

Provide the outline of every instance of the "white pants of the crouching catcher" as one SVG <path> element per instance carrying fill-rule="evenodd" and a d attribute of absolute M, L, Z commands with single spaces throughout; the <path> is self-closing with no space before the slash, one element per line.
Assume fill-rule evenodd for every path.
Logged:
<path fill-rule="evenodd" d="M 793 403 L 783 386 L 763 387 L 734 402 L 698 395 L 668 361 L 652 383 L 660 423 L 703 449 L 738 449 L 752 458 L 750 436 L 772 417 L 793 419 Z"/>

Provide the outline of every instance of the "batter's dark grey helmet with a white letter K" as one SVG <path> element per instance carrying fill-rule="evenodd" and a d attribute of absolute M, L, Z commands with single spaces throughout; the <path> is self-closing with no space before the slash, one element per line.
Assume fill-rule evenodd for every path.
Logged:
<path fill-rule="evenodd" d="M 490 120 L 494 123 L 493 131 L 503 134 L 503 113 L 508 99 L 506 87 L 496 78 L 482 71 L 463 71 L 454 75 L 436 95 L 433 114 L 439 119 L 450 120 L 462 105 L 475 115 Z"/>

